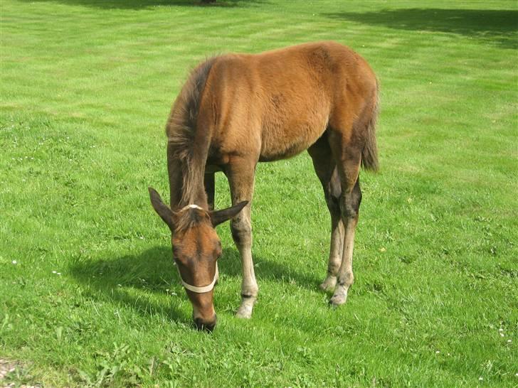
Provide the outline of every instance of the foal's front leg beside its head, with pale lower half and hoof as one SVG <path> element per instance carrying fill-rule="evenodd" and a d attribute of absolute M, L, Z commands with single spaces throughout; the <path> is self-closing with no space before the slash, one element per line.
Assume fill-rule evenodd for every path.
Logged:
<path fill-rule="evenodd" d="M 242 159 L 234 160 L 226 170 L 228 183 L 231 187 L 232 205 L 236 205 L 243 200 L 248 201 L 248 205 L 231 220 L 232 238 L 238 247 L 243 265 L 241 306 L 236 313 L 239 318 L 250 318 L 252 316 L 253 305 L 259 292 L 253 270 L 252 223 L 250 222 L 254 174 L 255 162 Z"/>

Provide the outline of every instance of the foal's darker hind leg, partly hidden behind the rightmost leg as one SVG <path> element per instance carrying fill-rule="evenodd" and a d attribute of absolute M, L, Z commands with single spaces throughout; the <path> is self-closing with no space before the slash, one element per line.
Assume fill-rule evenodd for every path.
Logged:
<path fill-rule="evenodd" d="M 331 156 L 331 149 L 327 143 L 327 136 L 317 141 L 307 150 L 313 160 L 314 171 L 322 183 L 324 197 L 331 215 L 331 247 L 329 247 L 329 262 L 327 264 L 326 279 L 320 284 L 324 291 L 333 291 L 337 284 L 337 274 L 342 264 L 342 252 L 344 249 L 344 223 L 340 215 L 340 178 L 336 169 L 336 163 Z"/>

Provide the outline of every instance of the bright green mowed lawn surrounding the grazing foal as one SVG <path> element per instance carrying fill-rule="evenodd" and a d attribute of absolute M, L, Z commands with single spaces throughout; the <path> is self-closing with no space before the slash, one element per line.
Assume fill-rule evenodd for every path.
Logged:
<path fill-rule="evenodd" d="M 516 387 L 516 1 L 3 0 L 0 386 Z M 334 40 L 381 82 L 356 281 L 319 291 L 329 215 L 306 153 L 258 166 L 260 295 L 228 224 L 200 333 L 147 186 L 192 66 Z M 217 177 L 218 208 L 229 205 Z"/>

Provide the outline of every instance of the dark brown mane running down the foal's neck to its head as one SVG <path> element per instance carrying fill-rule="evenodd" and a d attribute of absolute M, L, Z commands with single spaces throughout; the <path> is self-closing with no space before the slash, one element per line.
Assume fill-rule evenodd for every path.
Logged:
<path fill-rule="evenodd" d="M 208 151 L 208 144 L 196 142 L 195 137 L 201 96 L 208 74 L 217 58 L 208 58 L 191 71 L 189 79 L 176 98 L 166 124 L 168 157 L 178 160 L 182 170 L 181 204 L 194 203 L 196 185 L 203 182 L 206 161 L 203 153 Z"/>

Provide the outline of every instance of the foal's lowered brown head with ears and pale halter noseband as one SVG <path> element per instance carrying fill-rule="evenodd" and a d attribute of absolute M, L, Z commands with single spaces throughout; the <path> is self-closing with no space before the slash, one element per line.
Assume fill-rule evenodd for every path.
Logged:
<path fill-rule="evenodd" d="M 194 323 L 199 329 L 212 330 L 216 325 L 213 306 L 216 260 L 221 256 L 221 241 L 214 228 L 236 216 L 247 202 L 217 211 L 187 205 L 173 212 L 153 188 L 149 188 L 149 195 L 154 210 L 171 230 L 173 257 L 192 303 Z"/>

